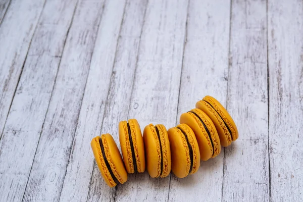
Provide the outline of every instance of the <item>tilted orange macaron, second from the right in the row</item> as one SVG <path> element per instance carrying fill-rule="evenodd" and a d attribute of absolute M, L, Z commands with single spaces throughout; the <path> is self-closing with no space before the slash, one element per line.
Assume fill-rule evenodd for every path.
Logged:
<path fill-rule="evenodd" d="M 180 123 L 187 124 L 194 132 L 202 161 L 220 154 L 221 144 L 212 120 L 201 110 L 193 109 L 181 115 Z"/>

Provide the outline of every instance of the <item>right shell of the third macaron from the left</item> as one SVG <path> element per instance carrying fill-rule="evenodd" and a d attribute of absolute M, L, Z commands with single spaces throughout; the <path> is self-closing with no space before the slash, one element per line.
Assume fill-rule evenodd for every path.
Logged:
<path fill-rule="evenodd" d="M 163 172 L 160 177 L 167 177 L 172 167 L 169 138 L 168 138 L 167 130 L 164 125 L 158 124 L 156 126 L 158 127 L 160 133 L 162 150 L 163 150 Z"/>

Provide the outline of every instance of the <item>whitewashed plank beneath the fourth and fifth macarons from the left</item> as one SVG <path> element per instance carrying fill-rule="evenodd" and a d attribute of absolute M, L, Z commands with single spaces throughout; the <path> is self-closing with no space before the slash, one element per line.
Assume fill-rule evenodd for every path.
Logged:
<path fill-rule="evenodd" d="M 222 6 L 224 5 L 224 6 Z M 205 95 L 225 106 L 228 77 L 230 5 L 221 1 L 190 1 L 177 123 Z M 171 176 L 169 201 L 221 201 L 223 154 L 201 162 L 196 174 Z M 208 187 L 208 188 L 206 188 Z"/>

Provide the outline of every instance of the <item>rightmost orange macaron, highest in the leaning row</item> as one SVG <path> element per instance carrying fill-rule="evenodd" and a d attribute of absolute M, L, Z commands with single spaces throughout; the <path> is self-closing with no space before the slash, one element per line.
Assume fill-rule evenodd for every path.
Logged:
<path fill-rule="evenodd" d="M 213 121 L 218 131 L 221 145 L 228 146 L 238 139 L 238 129 L 226 109 L 212 96 L 205 96 L 196 103 L 196 108 L 205 112 Z"/>

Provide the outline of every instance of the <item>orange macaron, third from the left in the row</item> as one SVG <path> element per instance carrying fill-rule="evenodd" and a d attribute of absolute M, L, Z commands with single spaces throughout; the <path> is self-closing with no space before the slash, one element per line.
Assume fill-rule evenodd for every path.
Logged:
<path fill-rule="evenodd" d="M 150 177 L 166 177 L 171 171 L 171 151 L 164 125 L 149 124 L 143 130 L 145 161 Z"/>

